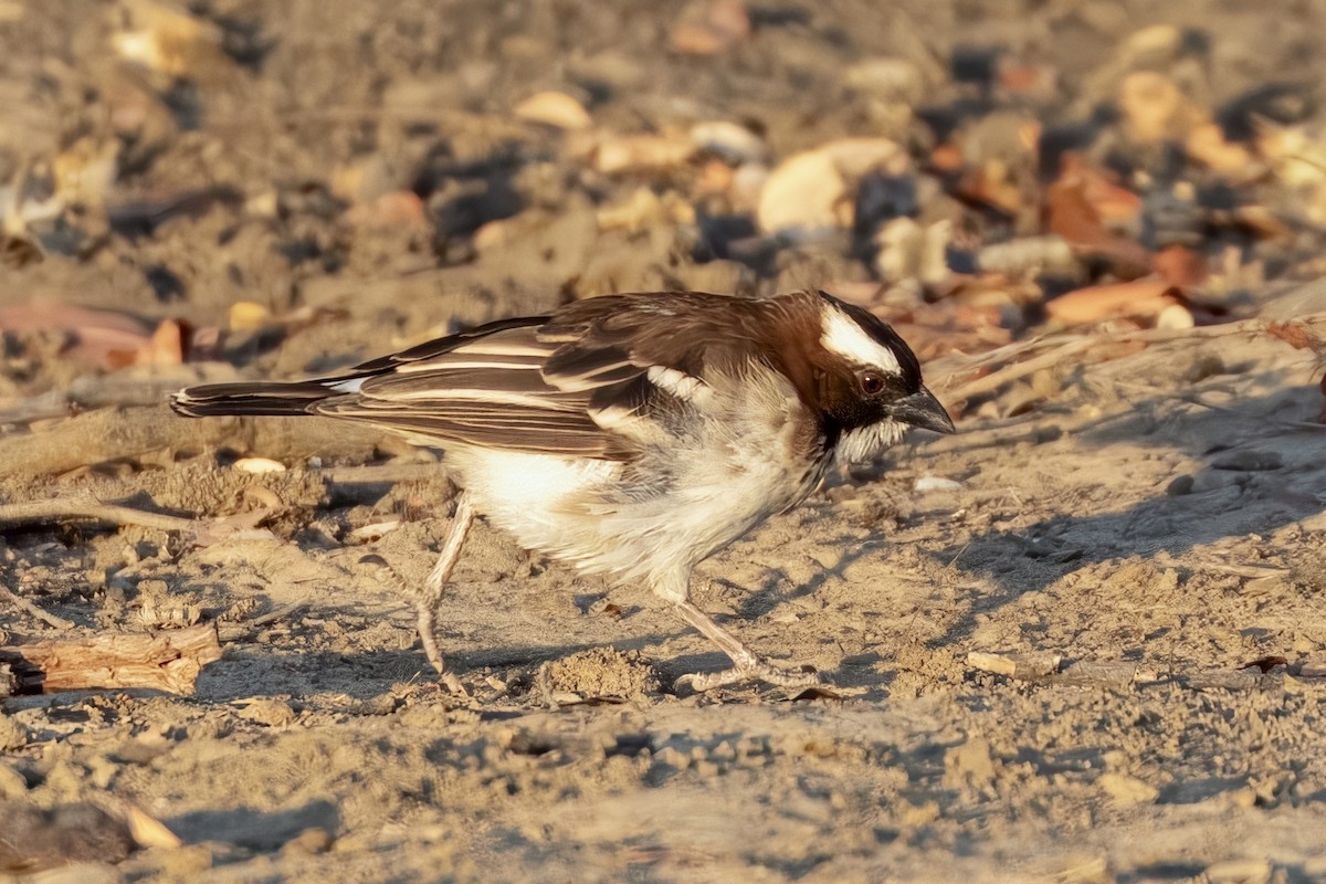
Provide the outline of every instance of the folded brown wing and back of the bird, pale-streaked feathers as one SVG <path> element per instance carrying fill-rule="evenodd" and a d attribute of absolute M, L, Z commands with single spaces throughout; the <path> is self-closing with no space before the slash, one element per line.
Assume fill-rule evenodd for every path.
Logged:
<path fill-rule="evenodd" d="M 593 298 L 365 363 L 312 411 L 440 447 L 631 460 L 684 431 L 707 370 L 751 358 L 753 306 L 686 293 Z"/>

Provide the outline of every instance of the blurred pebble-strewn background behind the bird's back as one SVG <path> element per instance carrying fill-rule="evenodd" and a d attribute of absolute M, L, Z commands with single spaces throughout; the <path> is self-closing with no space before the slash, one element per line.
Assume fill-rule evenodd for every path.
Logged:
<path fill-rule="evenodd" d="M 3 0 L 0 395 L 618 290 L 923 358 L 1248 315 L 1322 269 L 1323 5 Z"/>

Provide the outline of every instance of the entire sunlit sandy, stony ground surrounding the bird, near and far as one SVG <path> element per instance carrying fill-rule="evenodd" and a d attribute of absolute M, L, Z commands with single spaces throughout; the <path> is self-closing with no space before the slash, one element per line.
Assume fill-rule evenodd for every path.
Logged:
<path fill-rule="evenodd" d="M 1326 0 L 0 0 L 0 879 L 1326 880 L 1323 46 Z M 806 286 L 961 432 L 697 570 L 797 701 L 672 692 L 707 640 L 483 524 L 439 691 L 435 456 L 164 406 Z M 69 652 L 126 637 L 183 675 Z"/>

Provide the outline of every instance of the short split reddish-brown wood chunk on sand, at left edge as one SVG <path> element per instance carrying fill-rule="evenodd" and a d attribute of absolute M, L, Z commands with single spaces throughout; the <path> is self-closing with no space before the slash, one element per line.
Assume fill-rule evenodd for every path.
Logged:
<path fill-rule="evenodd" d="M 146 635 L 98 634 L 0 645 L 0 665 L 15 676 L 13 693 L 155 688 L 190 694 L 203 667 L 220 659 L 212 623 Z"/>

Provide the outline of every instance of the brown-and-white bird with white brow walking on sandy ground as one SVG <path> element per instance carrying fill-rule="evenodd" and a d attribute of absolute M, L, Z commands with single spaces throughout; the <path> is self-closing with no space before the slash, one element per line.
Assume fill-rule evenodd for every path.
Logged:
<path fill-rule="evenodd" d="M 731 660 L 695 692 L 819 676 L 757 655 L 695 604 L 691 571 L 908 427 L 955 432 L 916 355 L 826 292 L 605 294 L 499 319 L 341 374 L 187 387 L 175 412 L 321 415 L 443 451 L 455 512 L 416 596 L 424 653 L 476 514 L 526 550 L 644 583 Z"/>

